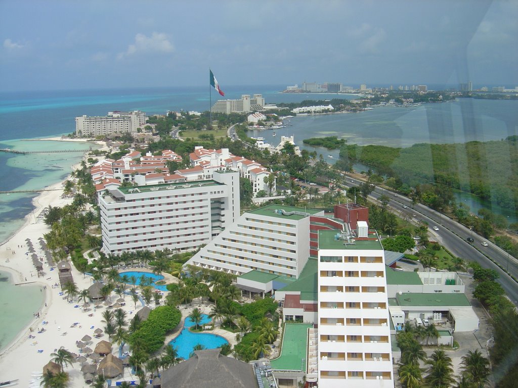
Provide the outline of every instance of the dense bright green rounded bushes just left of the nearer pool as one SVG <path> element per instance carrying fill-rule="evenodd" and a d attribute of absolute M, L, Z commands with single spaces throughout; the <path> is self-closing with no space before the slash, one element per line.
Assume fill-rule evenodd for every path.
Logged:
<path fill-rule="evenodd" d="M 142 350 L 152 353 L 164 346 L 165 336 L 173 330 L 182 317 L 181 312 L 171 306 L 160 306 L 151 310 L 148 319 L 130 337 L 130 344 L 137 339 L 142 342 Z"/>

